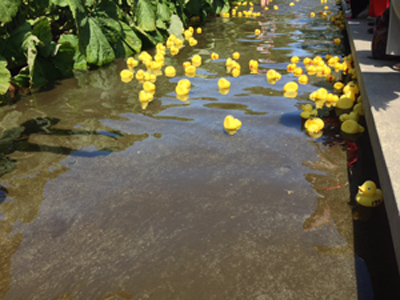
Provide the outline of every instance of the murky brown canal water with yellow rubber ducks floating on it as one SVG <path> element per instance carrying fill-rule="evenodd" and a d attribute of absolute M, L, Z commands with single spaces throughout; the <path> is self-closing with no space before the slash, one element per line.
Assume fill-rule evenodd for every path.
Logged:
<path fill-rule="evenodd" d="M 140 84 L 120 80 L 124 60 L 1 107 L 0 298 L 373 299 L 347 141 L 334 119 L 312 138 L 300 118 L 309 94 L 332 86 L 310 76 L 283 96 L 297 80 L 290 57 L 345 51 L 336 26 L 310 18 L 326 5 L 339 10 L 282 0 L 255 5 L 259 17 L 210 18 L 196 46 L 167 55 L 177 76 L 157 78 L 145 110 Z M 225 68 L 235 51 L 239 77 Z M 181 101 L 195 54 L 203 63 Z M 242 122 L 232 136 L 229 114 Z"/>

